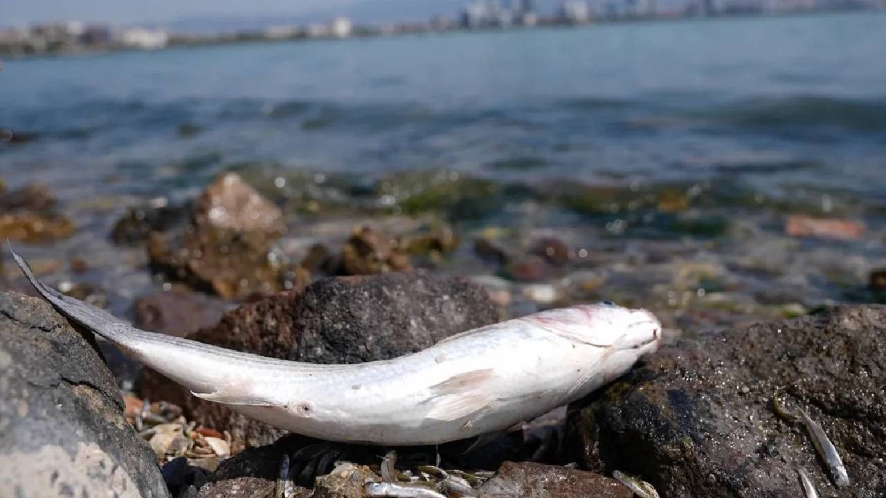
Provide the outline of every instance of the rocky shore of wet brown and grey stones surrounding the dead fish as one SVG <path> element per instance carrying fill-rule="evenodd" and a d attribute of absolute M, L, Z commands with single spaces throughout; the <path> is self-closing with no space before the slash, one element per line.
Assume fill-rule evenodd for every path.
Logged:
<path fill-rule="evenodd" d="M 633 491 L 613 479 L 620 472 L 663 498 L 802 496 L 797 468 L 821 496 L 886 493 L 886 307 L 820 306 L 822 294 L 790 286 L 847 268 L 828 266 L 816 241 L 881 237 L 879 228 L 791 213 L 772 236 L 694 211 L 704 201 L 685 190 L 558 189 L 558 205 L 585 216 L 634 202 L 617 219 L 641 224 L 642 212 L 654 212 L 664 221 L 647 222 L 649 230 L 694 234 L 586 244 L 579 240 L 590 232 L 465 228 L 506 194 L 464 178 L 436 178 L 408 195 L 390 180 L 379 189 L 400 213 L 367 222 L 352 212 L 346 223 L 306 219 L 353 209 L 329 191 L 317 195 L 313 181 L 294 195 L 227 174 L 187 202 L 132 206 L 107 237 L 118 252 L 140 254 L 133 271 L 152 275 L 151 291 L 138 297 L 96 284 L 107 263 L 90 254 L 68 264 L 38 258 L 35 270 L 97 306 L 128 303 L 146 330 L 301 362 L 388 359 L 507 317 L 602 299 L 649 307 L 668 344 L 587 399 L 477 452 L 464 453 L 470 440 L 330 445 L 190 396 L 23 295 L 33 292 L 6 265 L 0 486 L 24 496 L 269 496 L 286 460 L 287 496 L 360 497 L 365 482 L 382 481 L 393 450 L 397 479 L 447 496 L 627 498 Z M 0 206 L 0 233 L 16 244 L 83 230 L 39 186 L 0 190 Z M 603 229 L 610 237 L 621 230 L 612 223 Z M 742 238 L 750 242 L 730 247 Z M 828 264 L 767 260 L 763 241 Z M 882 270 L 867 269 L 842 276 L 845 301 L 882 300 Z M 66 278 L 52 279 L 57 273 Z M 773 399 L 820 424 L 850 486 L 835 486 L 804 424 L 779 416 Z"/>

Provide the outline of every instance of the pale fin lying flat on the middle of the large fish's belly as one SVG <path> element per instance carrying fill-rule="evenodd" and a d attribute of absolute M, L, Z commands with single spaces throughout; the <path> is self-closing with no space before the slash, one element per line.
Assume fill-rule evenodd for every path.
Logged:
<path fill-rule="evenodd" d="M 495 401 L 485 389 L 486 382 L 493 377 L 493 369 L 471 370 L 431 386 L 431 404 L 428 418 L 434 420 L 458 420 L 477 413 Z M 470 427 L 471 421 L 465 426 Z"/>

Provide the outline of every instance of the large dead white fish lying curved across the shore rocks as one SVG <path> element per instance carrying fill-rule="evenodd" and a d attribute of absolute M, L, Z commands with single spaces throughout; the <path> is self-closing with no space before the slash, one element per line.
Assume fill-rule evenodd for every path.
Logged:
<path fill-rule="evenodd" d="M 47 287 L 12 256 L 62 314 L 195 396 L 323 440 L 431 445 L 499 432 L 621 376 L 661 338 L 648 311 L 605 302 L 495 323 L 392 360 L 288 362 L 138 330 Z"/>

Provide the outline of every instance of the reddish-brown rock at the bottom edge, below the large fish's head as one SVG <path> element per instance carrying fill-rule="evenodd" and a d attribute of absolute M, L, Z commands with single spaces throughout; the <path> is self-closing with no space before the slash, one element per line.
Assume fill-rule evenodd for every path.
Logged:
<path fill-rule="evenodd" d="M 542 463 L 505 462 L 479 488 L 481 498 L 631 498 L 633 492 L 615 479 Z"/>

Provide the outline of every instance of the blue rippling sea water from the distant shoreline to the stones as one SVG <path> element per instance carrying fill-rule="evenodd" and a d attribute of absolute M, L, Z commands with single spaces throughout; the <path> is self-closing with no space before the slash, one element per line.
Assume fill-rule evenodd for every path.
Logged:
<path fill-rule="evenodd" d="M 674 265 L 710 260 L 718 289 L 738 283 L 729 309 L 773 289 L 793 296 L 772 298 L 779 305 L 812 306 L 845 299 L 883 261 L 883 46 L 886 15 L 865 12 L 4 61 L 0 127 L 36 137 L 0 144 L 0 177 L 49 184 L 78 225 L 26 254 L 89 254 L 98 262 L 80 278 L 120 292 L 120 310 L 152 283 L 144 250 L 107 241 L 113 220 L 146 198 L 191 197 L 232 168 L 346 172 L 358 186 L 424 169 L 531 186 L 698 183 L 719 193 L 692 209 L 726 217 L 725 235 L 669 229 L 663 239 L 666 216 L 577 214 L 538 196 L 506 198 L 464 230 L 470 240 L 484 224 L 517 228 L 517 245 L 563 237 L 607 261 L 579 265 L 611 274 L 600 292 L 630 299 L 664 286 L 640 304 L 697 296 L 695 281 L 675 291 Z M 757 204 L 723 200 L 733 186 Z M 781 230 L 796 210 L 850 216 L 867 232 L 797 241 Z M 353 217 L 293 217 L 288 247 L 344 237 Z M 462 246 L 448 270 L 485 268 Z M 664 262 L 637 262 L 656 252 Z"/>

